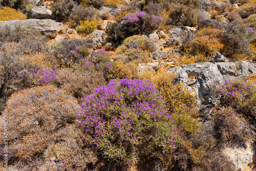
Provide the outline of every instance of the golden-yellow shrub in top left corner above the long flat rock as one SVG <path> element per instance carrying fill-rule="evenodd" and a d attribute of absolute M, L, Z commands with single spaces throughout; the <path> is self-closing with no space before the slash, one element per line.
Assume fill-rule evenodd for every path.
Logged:
<path fill-rule="evenodd" d="M 0 9 L 0 21 L 4 20 L 14 20 L 14 19 L 26 19 L 26 16 L 13 8 L 10 7 L 3 7 Z"/>

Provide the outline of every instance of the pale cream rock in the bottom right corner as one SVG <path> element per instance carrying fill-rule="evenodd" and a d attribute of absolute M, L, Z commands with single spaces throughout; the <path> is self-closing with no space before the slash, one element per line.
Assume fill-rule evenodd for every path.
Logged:
<path fill-rule="evenodd" d="M 244 170 L 253 161 L 256 147 L 253 142 L 242 144 L 241 142 L 226 143 L 222 154 L 227 156 L 234 164 L 236 170 Z"/>

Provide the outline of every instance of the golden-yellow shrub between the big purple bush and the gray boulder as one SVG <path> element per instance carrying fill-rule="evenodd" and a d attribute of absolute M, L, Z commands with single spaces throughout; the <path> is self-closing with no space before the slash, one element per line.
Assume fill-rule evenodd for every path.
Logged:
<path fill-rule="evenodd" d="M 178 129 L 185 130 L 188 133 L 199 131 L 200 126 L 195 119 L 199 110 L 196 99 L 190 91 L 183 88 L 182 84 L 174 84 L 174 74 L 144 72 L 139 74 L 138 77 L 150 80 L 161 92 L 161 96 L 166 102 L 166 109 L 172 115 Z"/>

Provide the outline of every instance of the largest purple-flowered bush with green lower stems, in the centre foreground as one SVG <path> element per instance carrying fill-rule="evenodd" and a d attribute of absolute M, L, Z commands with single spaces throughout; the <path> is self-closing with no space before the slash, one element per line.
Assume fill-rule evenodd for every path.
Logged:
<path fill-rule="evenodd" d="M 130 165 L 142 157 L 176 151 L 176 127 L 156 87 L 147 80 L 111 80 L 81 105 L 77 127 L 86 144 L 101 149 L 106 158 Z"/>

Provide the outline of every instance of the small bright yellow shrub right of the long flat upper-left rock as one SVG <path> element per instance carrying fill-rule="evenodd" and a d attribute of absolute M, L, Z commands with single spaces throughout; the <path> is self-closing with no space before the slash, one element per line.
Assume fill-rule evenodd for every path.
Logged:
<path fill-rule="evenodd" d="M 80 33 L 80 34 L 85 34 L 85 35 L 88 35 L 92 32 L 94 32 L 99 23 L 97 20 L 95 19 L 92 19 L 92 20 L 83 20 L 83 21 L 80 21 L 80 26 L 78 26 L 78 28 L 76 29 L 77 33 Z"/>

